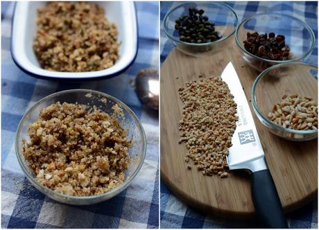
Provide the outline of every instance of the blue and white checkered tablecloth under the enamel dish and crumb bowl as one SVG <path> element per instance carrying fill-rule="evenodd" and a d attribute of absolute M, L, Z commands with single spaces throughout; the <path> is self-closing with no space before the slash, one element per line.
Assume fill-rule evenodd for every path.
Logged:
<path fill-rule="evenodd" d="M 143 107 L 130 85 L 139 69 L 158 69 L 157 2 L 139 2 L 139 51 L 135 63 L 109 80 L 67 83 L 32 78 L 20 71 L 10 55 L 13 3 L 1 3 L 1 227 L 2 228 L 157 228 L 158 113 Z M 28 183 L 15 156 L 15 132 L 26 109 L 37 100 L 64 89 L 95 89 L 126 103 L 139 117 L 147 138 L 144 165 L 132 184 L 111 200 L 89 206 L 55 202 Z"/>

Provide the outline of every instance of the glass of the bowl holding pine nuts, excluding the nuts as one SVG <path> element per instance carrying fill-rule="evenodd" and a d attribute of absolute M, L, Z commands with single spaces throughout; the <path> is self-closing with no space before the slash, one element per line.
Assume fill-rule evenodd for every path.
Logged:
<path fill-rule="evenodd" d="M 282 96 L 310 96 L 318 103 L 318 67 L 300 62 L 278 64 L 260 73 L 252 85 L 252 107 L 270 132 L 290 141 L 316 139 L 318 130 L 293 130 L 270 121 L 267 114 Z"/>

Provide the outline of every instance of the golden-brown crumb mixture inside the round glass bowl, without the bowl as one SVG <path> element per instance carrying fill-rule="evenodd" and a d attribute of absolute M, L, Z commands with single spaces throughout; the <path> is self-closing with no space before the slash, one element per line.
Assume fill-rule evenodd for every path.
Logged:
<path fill-rule="evenodd" d="M 23 154 L 44 186 L 67 195 L 98 195 L 125 179 L 132 146 L 127 134 L 114 114 L 55 103 L 29 125 Z"/>

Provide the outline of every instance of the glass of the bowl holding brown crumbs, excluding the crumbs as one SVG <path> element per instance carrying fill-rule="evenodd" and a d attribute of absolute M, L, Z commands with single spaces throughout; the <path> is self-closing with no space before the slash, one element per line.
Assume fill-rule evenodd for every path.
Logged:
<path fill-rule="evenodd" d="M 105 98 L 107 102 L 105 103 Z M 103 100 L 104 99 L 104 100 Z M 96 106 L 101 109 L 103 112 L 107 114 L 112 114 L 113 109 L 112 106 L 118 104 L 119 107 L 123 109 L 123 118 L 119 118 L 122 126 L 128 129 L 128 139 L 132 139 L 132 148 L 129 150 L 129 154 L 132 157 L 130 160 L 130 164 L 128 169 L 126 170 L 126 178 L 123 184 L 113 188 L 107 193 L 103 193 L 101 195 L 92 195 L 92 196 L 72 196 L 72 195 L 64 195 L 62 193 L 58 193 L 56 191 L 47 188 L 40 184 L 40 182 L 35 179 L 35 174 L 29 168 L 28 163 L 24 159 L 24 155 L 22 154 L 22 139 L 29 140 L 28 137 L 28 124 L 34 123 L 39 118 L 40 110 L 44 107 L 47 107 L 53 103 L 79 103 L 89 106 Z M 98 202 L 103 202 L 105 200 L 114 197 L 118 193 L 121 193 L 128 185 L 132 182 L 132 179 L 135 178 L 141 166 L 144 162 L 145 152 L 146 152 L 146 136 L 143 130 L 141 123 L 137 116 L 132 112 L 132 110 L 122 103 L 117 98 L 114 98 L 110 95 L 103 94 L 98 91 L 93 91 L 89 89 L 71 89 L 66 91 L 60 91 L 55 94 L 51 94 L 46 96 L 42 100 L 38 101 L 31 109 L 24 114 L 21 119 L 18 129 L 17 136 L 15 139 L 15 151 L 17 154 L 17 159 L 19 164 L 28 178 L 29 182 L 35 186 L 40 192 L 44 193 L 48 197 L 58 202 L 62 202 L 65 204 L 76 204 L 76 205 L 87 205 L 87 204 L 96 204 Z"/>

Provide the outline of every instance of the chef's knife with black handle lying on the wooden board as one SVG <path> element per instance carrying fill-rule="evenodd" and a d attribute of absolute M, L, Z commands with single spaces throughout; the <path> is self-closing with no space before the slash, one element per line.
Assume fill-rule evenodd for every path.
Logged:
<path fill-rule="evenodd" d="M 232 147 L 227 156 L 230 170 L 247 169 L 252 172 L 252 201 L 257 216 L 267 228 L 288 228 L 273 177 L 268 170 L 264 151 L 259 141 L 248 101 L 241 82 L 232 65 L 227 64 L 221 78 L 227 83 L 237 104 L 236 130 L 232 136 Z"/>

